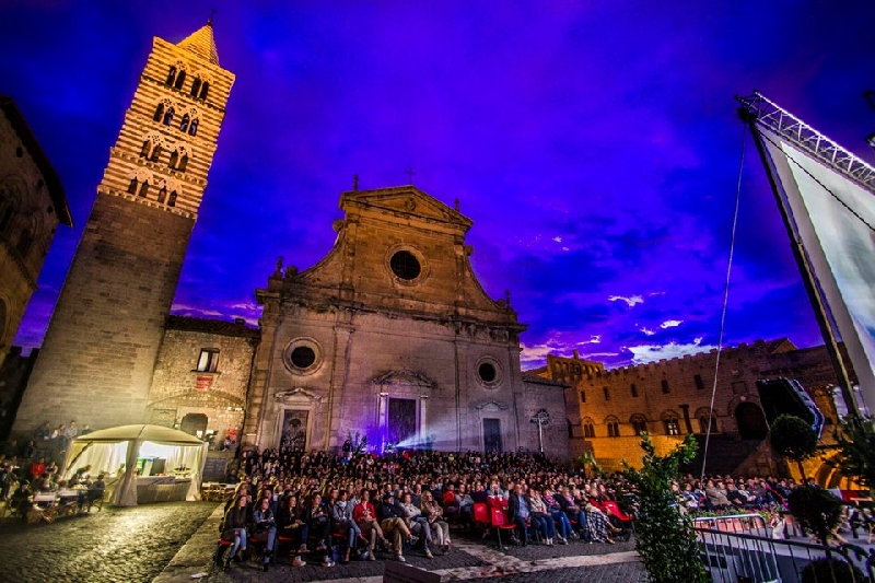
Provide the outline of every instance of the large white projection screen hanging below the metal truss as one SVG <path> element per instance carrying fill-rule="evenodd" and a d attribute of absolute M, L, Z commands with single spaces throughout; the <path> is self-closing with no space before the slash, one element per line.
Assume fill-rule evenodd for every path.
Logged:
<path fill-rule="evenodd" d="M 856 372 L 860 409 L 875 411 L 875 194 L 760 129 L 796 233 Z"/>

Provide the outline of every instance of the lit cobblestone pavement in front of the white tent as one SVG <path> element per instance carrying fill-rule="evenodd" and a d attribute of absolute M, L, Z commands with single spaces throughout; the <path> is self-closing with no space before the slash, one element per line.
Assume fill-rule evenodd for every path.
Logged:
<path fill-rule="evenodd" d="M 217 504 L 104 506 L 54 524 L 0 521 L 2 581 L 151 582 Z"/>

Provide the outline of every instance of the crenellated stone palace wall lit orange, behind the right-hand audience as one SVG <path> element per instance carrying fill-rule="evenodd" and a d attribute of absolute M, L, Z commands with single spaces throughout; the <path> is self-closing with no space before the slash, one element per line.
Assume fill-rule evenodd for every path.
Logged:
<path fill-rule="evenodd" d="M 538 371 L 542 376 L 574 382 L 574 386 L 567 389 L 569 411 L 580 411 L 580 418 L 572 419 L 573 456 L 592 447 L 596 458 L 607 468 L 619 467 L 621 459 L 639 464 L 642 452 L 638 445 L 638 428 L 633 424 L 637 420 L 643 423 L 639 428 L 651 434 L 660 454 L 667 453 L 687 433 L 704 433 L 714 387 L 715 351 L 650 364 L 595 370 L 570 377 L 569 363 L 573 362 L 574 359 L 553 357 L 547 368 Z M 746 405 L 748 412 L 761 415 L 757 380 L 781 376 L 798 380 L 828 423 L 837 419 L 832 400 L 832 386 L 837 381 L 826 348 L 800 350 L 786 339 L 758 340 L 752 345 L 727 348 L 721 354 L 712 432 L 736 439 L 746 436 L 745 431 L 750 428 L 742 421 L 739 432 L 739 406 L 750 404 Z M 749 420 L 747 423 L 749 425 Z M 592 435 L 586 434 L 587 425 Z M 669 434 L 675 431 L 673 428 L 676 428 L 677 435 Z M 829 427 L 824 433 L 829 441 Z M 770 455 L 770 451 L 759 452 L 756 459 L 751 457 L 746 464 L 760 468 L 780 467 L 774 458 L 766 460 L 763 455 Z"/>

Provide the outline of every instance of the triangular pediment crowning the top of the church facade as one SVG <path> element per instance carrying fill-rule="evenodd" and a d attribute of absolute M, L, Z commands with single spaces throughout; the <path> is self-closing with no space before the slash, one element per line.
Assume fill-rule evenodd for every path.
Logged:
<path fill-rule="evenodd" d="M 471 220 L 447 207 L 415 186 L 398 186 L 376 190 L 349 190 L 340 197 L 340 208 L 347 212 L 386 213 L 424 221 L 439 221 L 467 231 Z"/>

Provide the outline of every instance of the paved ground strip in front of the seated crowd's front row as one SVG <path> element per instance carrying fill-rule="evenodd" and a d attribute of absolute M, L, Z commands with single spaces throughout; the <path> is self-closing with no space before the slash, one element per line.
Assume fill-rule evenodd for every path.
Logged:
<path fill-rule="evenodd" d="M 209 583 L 240 582 L 316 582 L 338 581 L 353 583 L 381 583 L 387 555 L 377 555 L 377 561 L 352 561 L 325 568 L 319 558 L 305 557 L 306 567 L 290 564 L 288 550 L 281 549 L 280 558 L 271 563 L 267 573 L 261 571 L 257 558 L 250 562 L 234 564 L 228 570 L 212 564 L 212 553 L 219 539 L 219 513 L 213 513 L 198 533 L 171 561 L 155 583 L 174 583 L 200 579 Z M 634 543 L 587 545 L 571 541 L 568 546 L 546 547 L 529 545 L 525 548 L 495 549 L 494 540 L 464 538 L 453 533 L 454 548 L 450 553 L 436 553 L 427 559 L 412 551 L 405 555 L 407 564 L 447 575 L 451 580 L 477 580 L 478 582 L 643 582 L 646 573 L 634 552 Z M 192 578 L 194 575 L 194 578 Z"/>

